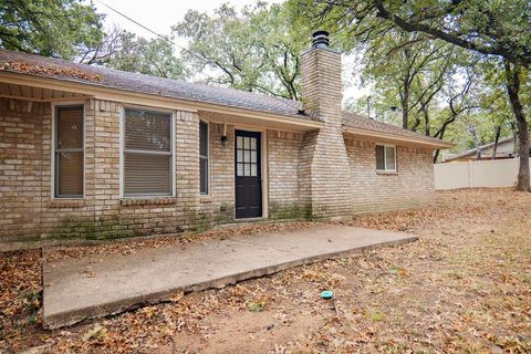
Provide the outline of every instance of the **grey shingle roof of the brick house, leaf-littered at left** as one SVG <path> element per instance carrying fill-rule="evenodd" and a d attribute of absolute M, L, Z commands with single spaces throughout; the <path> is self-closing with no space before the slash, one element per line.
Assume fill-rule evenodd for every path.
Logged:
<path fill-rule="evenodd" d="M 180 80 L 124 72 L 102 66 L 72 63 L 60 59 L 21 52 L 0 50 L 0 71 L 25 73 L 34 76 L 53 77 L 110 88 L 244 108 L 301 119 L 312 119 L 309 114 L 303 113 L 302 103 L 292 100 L 201 83 L 190 83 Z M 431 144 L 441 143 L 439 139 L 403 129 L 398 126 L 376 122 L 353 113 L 343 113 L 343 125 L 347 128 L 387 133 Z"/>

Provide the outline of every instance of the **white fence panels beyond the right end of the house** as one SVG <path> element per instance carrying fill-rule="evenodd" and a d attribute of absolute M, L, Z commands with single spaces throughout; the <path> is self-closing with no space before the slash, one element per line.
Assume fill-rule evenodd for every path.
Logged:
<path fill-rule="evenodd" d="M 512 187 L 518 166 L 518 158 L 436 164 L 435 189 Z"/>

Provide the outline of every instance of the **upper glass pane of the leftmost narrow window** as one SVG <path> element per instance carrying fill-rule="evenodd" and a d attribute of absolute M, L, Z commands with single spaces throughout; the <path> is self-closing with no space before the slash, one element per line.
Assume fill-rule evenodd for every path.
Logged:
<path fill-rule="evenodd" d="M 83 107 L 58 107 L 58 148 L 83 147 Z"/>

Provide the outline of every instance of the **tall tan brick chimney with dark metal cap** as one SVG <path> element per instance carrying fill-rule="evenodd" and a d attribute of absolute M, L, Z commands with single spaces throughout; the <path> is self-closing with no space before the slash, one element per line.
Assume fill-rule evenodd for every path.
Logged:
<path fill-rule="evenodd" d="M 324 126 L 304 135 L 300 158 L 301 204 L 313 218 L 351 214 L 351 170 L 342 133 L 341 54 L 329 46 L 329 33 L 313 33 L 302 54 L 304 111 Z"/>

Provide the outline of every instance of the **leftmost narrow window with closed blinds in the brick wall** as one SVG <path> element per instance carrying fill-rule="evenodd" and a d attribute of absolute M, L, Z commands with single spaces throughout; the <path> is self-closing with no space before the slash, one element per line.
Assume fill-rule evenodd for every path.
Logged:
<path fill-rule="evenodd" d="M 56 106 L 54 127 L 54 197 L 82 198 L 83 106 Z"/>

